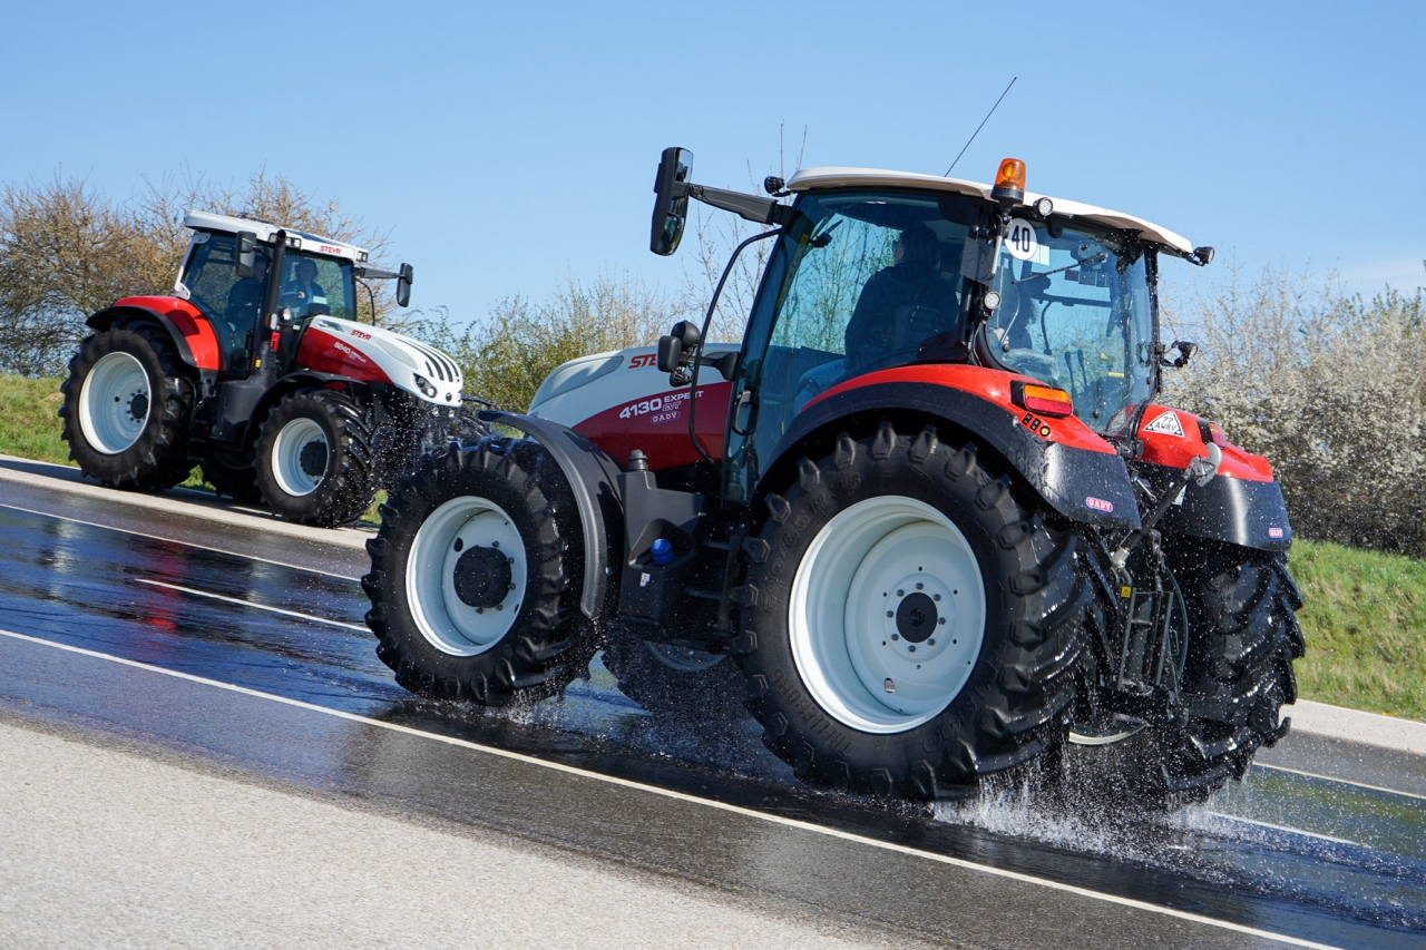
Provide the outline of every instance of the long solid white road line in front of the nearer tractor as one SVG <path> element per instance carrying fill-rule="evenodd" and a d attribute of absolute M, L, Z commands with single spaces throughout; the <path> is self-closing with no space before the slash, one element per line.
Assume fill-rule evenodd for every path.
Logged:
<path fill-rule="evenodd" d="M 793 827 L 801 832 L 809 832 L 811 834 L 821 834 L 824 837 L 836 837 L 844 842 L 854 842 L 857 844 L 866 844 L 868 847 L 877 847 L 884 852 L 894 852 L 897 854 L 907 854 L 910 857 L 918 857 L 923 860 L 934 862 L 937 864 L 947 864 L 951 867 L 958 867 L 961 870 L 980 872 L 983 874 L 990 874 L 992 877 L 1001 877 L 1005 880 L 1014 880 L 1024 884 L 1037 884 L 1040 887 L 1047 887 L 1050 890 L 1058 890 L 1062 893 L 1078 894 L 1081 897 L 1088 897 L 1091 900 L 1102 900 L 1111 904 L 1119 904 L 1121 907 L 1132 907 L 1135 910 L 1144 910 L 1154 914 L 1161 914 L 1165 917 L 1175 917 L 1178 920 L 1189 920 L 1208 927 L 1216 927 L 1219 930 L 1231 930 L 1233 933 L 1249 934 L 1253 937 L 1262 937 L 1265 940 L 1276 940 L 1293 947 L 1310 947 L 1312 950 L 1340 950 L 1325 943 L 1315 943 L 1312 940 L 1303 940 L 1301 937 L 1289 937 L 1281 933 L 1272 933 L 1271 930 L 1259 930 L 1258 927 L 1248 927 L 1243 924 L 1232 923 L 1228 920 L 1216 920 L 1214 917 L 1205 917 L 1202 914 L 1194 914 L 1186 910 L 1176 910 L 1174 907 L 1161 907 L 1158 904 L 1151 904 L 1148 902 L 1135 900 L 1132 897 L 1119 897 L 1118 894 L 1105 894 L 1097 890 L 1089 890 L 1088 887 L 1077 887 L 1075 884 L 1064 884 L 1055 880 L 1045 880 L 1042 877 L 1032 877 L 1030 874 L 1022 874 L 1020 872 L 1005 870 L 1001 867 L 992 867 L 990 864 L 977 864 L 974 862 L 964 860 L 961 857 L 951 857 L 948 854 L 937 854 L 934 852 L 924 852 L 914 847 L 907 847 L 906 844 L 896 844 L 893 842 L 881 842 L 874 837 L 866 837 L 861 834 L 853 834 L 851 832 L 843 832 L 834 827 L 823 827 L 821 824 L 813 824 L 811 822 L 803 822 L 799 819 L 783 817 L 781 814 L 767 814 L 764 812 L 754 812 L 753 809 L 744 809 L 739 805 L 727 805 L 724 802 L 714 802 L 712 799 L 700 799 L 684 792 L 674 792 L 672 789 L 660 789 L 652 785 L 643 785 L 642 782 L 632 782 L 629 779 L 620 779 L 612 775 L 600 775 L 597 772 L 589 772 L 586 769 L 579 769 L 576 766 L 568 766 L 559 762 L 546 762 L 543 759 L 536 759 L 519 752 L 509 752 L 508 749 L 498 749 L 495 746 L 482 746 L 466 739 L 456 739 L 453 736 L 442 736 L 434 732 L 424 732 L 421 729 L 414 729 L 411 726 L 402 726 L 399 723 L 381 722 L 379 719 L 369 719 L 366 716 L 358 716 L 356 713 L 342 712 L 339 709 L 328 709 L 327 706 L 317 706 L 312 703 L 302 702 L 301 699 L 288 699 L 287 696 L 275 696 L 272 693 L 264 693 L 257 689 L 248 689 L 247 686 L 237 686 L 234 683 L 224 683 L 217 679 L 207 679 L 204 676 L 194 676 L 193 673 L 181 673 L 173 669 L 164 669 L 163 666 L 151 666 L 150 663 L 141 663 L 138 660 L 125 659 L 123 656 L 113 656 L 110 653 L 100 653 L 97 650 L 88 650 L 81 646 L 70 646 L 68 643 L 56 643 L 54 640 L 47 640 L 39 636 L 27 636 L 24 633 L 16 633 L 13 630 L 0 629 L 0 636 L 9 636 L 16 640 L 23 640 L 26 643 L 34 643 L 37 646 L 48 646 L 57 650 L 64 650 L 68 653 L 78 653 L 81 656 L 90 656 L 94 659 L 108 660 L 111 663 L 120 663 L 123 666 L 131 666 L 134 669 L 147 670 L 150 673 L 160 673 L 163 676 L 173 676 L 174 679 L 183 679 L 191 683 L 200 683 L 202 686 L 214 686 L 217 689 L 225 689 L 228 692 L 241 693 L 244 696 L 254 696 L 257 699 L 267 699 L 284 706 L 294 706 L 297 709 L 305 709 L 308 712 L 322 713 L 327 716 L 334 716 L 337 719 L 345 719 L 348 722 L 356 722 L 366 726 L 374 726 L 376 729 L 389 729 L 391 732 L 401 732 L 409 736 L 416 736 L 419 739 L 428 739 L 431 742 L 442 742 L 448 746 L 456 746 L 461 749 L 471 749 L 472 752 L 481 752 L 489 756 L 496 756 L 501 759 L 509 759 L 512 762 L 522 762 L 525 765 L 536 766 L 540 769 L 549 769 L 550 772 L 560 772 L 563 775 L 573 775 L 583 779 L 590 779 L 593 782 L 603 782 L 605 785 L 616 785 L 625 789 L 635 789 L 637 792 L 646 792 L 649 795 L 657 795 L 665 799 L 673 799 L 676 802 L 686 802 L 689 805 L 700 805 L 703 807 L 716 809 L 719 812 L 729 812 L 732 814 L 740 814 L 743 817 L 754 819 L 759 822 L 767 822 L 770 824 L 781 824 L 784 827 Z"/>

